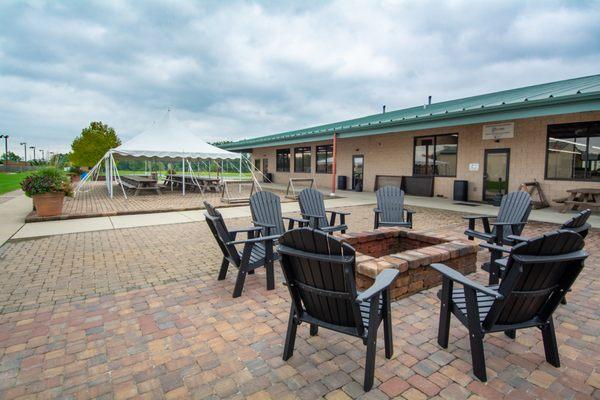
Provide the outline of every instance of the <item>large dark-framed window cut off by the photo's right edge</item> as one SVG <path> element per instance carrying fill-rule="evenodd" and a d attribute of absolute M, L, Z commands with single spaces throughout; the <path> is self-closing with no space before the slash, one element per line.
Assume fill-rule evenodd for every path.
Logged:
<path fill-rule="evenodd" d="M 600 181 L 600 121 L 548 126 L 546 179 Z"/>

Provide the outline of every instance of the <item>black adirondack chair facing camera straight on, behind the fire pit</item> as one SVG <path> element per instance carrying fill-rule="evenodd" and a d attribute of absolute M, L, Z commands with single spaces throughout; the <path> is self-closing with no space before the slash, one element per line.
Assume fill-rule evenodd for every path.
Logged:
<path fill-rule="evenodd" d="M 397 186 L 384 186 L 375 192 L 377 208 L 375 212 L 375 229 L 380 226 L 400 226 L 412 229 L 414 211 L 404 208 L 404 191 Z"/>

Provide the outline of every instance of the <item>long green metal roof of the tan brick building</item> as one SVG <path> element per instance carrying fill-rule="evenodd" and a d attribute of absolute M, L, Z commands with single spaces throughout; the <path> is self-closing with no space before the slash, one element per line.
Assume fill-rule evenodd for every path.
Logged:
<path fill-rule="evenodd" d="M 600 110 L 600 74 L 388 111 L 331 124 L 260 136 L 220 147 L 256 147 Z"/>

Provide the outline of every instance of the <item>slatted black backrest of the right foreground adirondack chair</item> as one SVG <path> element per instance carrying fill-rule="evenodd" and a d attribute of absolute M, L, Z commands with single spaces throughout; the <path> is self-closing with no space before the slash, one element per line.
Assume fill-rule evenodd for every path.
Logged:
<path fill-rule="evenodd" d="M 577 233 L 559 230 L 514 246 L 498 288 L 505 298 L 493 302 L 484 328 L 546 321 L 583 268 L 583 244 Z"/>

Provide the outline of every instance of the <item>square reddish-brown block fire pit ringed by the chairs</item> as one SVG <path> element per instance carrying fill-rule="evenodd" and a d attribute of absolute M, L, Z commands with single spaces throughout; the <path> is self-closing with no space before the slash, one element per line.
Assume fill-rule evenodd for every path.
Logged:
<path fill-rule="evenodd" d="M 477 245 L 453 233 L 386 227 L 340 237 L 356 249 L 358 290 L 371 286 L 384 269 L 400 271 L 391 289 L 392 299 L 441 284 L 440 273 L 428 267 L 432 263 L 446 264 L 463 274 L 476 269 Z"/>

